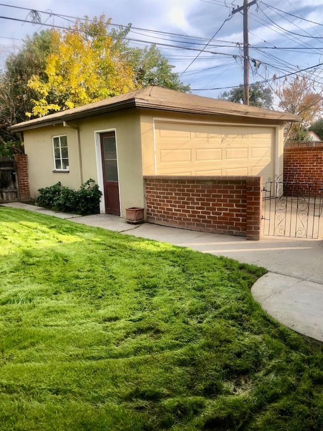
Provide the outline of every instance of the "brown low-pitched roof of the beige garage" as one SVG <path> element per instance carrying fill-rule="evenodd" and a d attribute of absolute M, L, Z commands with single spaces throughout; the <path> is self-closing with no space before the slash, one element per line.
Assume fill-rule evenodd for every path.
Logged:
<path fill-rule="evenodd" d="M 163 111 L 204 114 L 229 115 L 234 117 L 263 118 L 280 121 L 301 121 L 301 117 L 287 112 L 271 111 L 223 100 L 201 97 L 195 94 L 169 90 L 157 86 L 130 91 L 100 102 L 90 103 L 78 108 L 68 109 L 56 114 L 46 115 L 24 121 L 10 127 L 12 132 L 59 124 L 63 121 L 84 118 L 96 114 L 117 111 L 125 108 L 157 109 Z"/>

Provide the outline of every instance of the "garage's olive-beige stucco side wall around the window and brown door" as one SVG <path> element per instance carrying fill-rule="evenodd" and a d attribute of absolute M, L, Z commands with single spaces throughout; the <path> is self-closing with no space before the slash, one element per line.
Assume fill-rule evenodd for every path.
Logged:
<path fill-rule="evenodd" d="M 80 129 L 82 170 L 78 151 L 77 131 L 63 125 L 41 127 L 24 132 L 25 152 L 29 160 L 29 182 L 31 197 L 40 187 L 61 181 L 63 185 L 79 188 L 82 181 L 93 178 L 98 182 L 95 153 L 95 131 L 116 130 L 119 167 L 121 215 L 125 209 L 143 206 L 143 179 L 140 143 L 139 112 L 118 111 L 68 122 Z M 70 172 L 52 172 L 52 136 L 67 135 Z M 101 166 L 99 166 L 101 169 Z M 82 178 L 81 178 L 82 172 Z"/>

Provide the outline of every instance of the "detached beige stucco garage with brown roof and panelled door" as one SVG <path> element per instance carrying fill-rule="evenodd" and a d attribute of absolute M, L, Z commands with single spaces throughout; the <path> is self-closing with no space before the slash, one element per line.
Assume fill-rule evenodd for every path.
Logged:
<path fill-rule="evenodd" d="M 11 131 L 24 133 L 31 198 L 58 181 L 78 189 L 92 178 L 102 191 L 100 212 L 126 217 L 128 208 L 145 208 L 144 176 L 262 177 L 264 183 L 282 174 L 284 124 L 299 120 L 151 86 Z"/>

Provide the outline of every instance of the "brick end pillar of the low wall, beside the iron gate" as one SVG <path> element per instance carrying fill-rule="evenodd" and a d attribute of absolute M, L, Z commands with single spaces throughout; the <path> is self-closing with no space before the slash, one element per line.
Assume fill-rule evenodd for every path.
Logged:
<path fill-rule="evenodd" d="M 246 181 L 247 189 L 247 240 L 260 240 L 262 176 Z"/>

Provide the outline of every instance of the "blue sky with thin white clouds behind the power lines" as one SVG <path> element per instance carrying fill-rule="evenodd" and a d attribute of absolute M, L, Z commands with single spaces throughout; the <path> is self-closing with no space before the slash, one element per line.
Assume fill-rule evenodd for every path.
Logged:
<path fill-rule="evenodd" d="M 243 82 L 243 16 L 232 13 L 243 0 L 3 1 L 2 65 L 10 52 L 19 50 L 26 35 L 49 28 L 44 24 L 67 27 L 75 19 L 62 15 L 91 19 L 104 14 L 112 24 L 132 24 L 128 36 L 133 46 L 156 43 L 194 94 L 217 98 Z M 31 20 L 32 9 L 47 12 L 40 13 L 43 25 L 9 19 Z M 323 69 L 317 65 L 323 63 L 323 0 L 257 1 L 249 7 L 248 20 L 250 83 L 277 86 L 286 75 L 291 79 L 306 74 L 320 91 Z"/>

